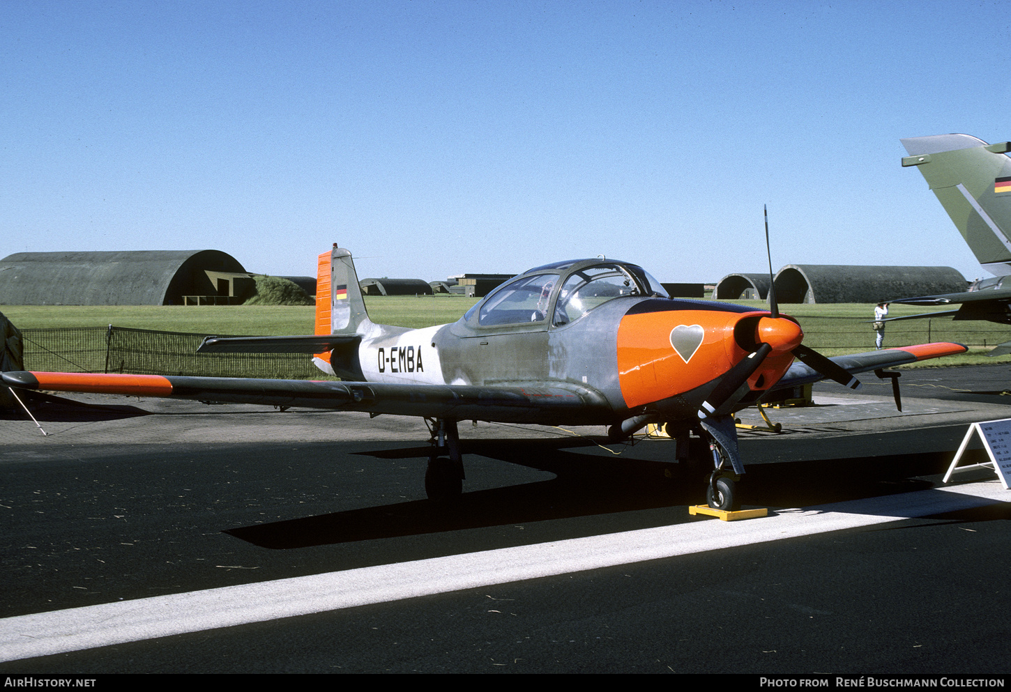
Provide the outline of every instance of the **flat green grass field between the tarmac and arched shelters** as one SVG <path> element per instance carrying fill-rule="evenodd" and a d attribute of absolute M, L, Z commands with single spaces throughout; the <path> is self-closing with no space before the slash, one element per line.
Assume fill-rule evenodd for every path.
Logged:
<path fill-rule="evenodd" d="M 366 299 L 373 321 L 408 327 L 424 327 L 456 321 L 473 298 L 461 296 L 375 296 Z M 734 301 L 755 309 L 766 309 L 762 301 Z M 805 343 L 838 356 L 874 350 L 874 330 L 867 320 L 874 305 L 785 304 L 780 309 L 797 317 L 805 330 Z M 941 310 L 943 308 L 937 308 Z M 158 329 L 214 334 L 308 334 L 313 331 L 314 309 L 294 306 L 43 306 L 6 305 L 2 311 L 19 328 L 89 326 Z M 893 305 L 889 316 L 930 312 L 913 305 Z M 936 310 L 935 310 L 936 311 Z M 1011 328 L 990 322 L 953 322 L 932 318 L 892 322 L 886 329 L 886 348 L 927 341 L 955 341 L 971 347 L 971 353 L 929 361 L 927 366 L 1007 363 L 1011 356 L 991 359 L 986 353 L 1011 339 Z"/>

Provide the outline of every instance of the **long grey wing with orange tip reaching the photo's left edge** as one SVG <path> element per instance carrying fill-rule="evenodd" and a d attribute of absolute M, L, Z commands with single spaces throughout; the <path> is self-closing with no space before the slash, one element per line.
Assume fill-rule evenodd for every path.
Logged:
<path fill-rule="evenodd" d="M 304 406 L 458 420 L 573 425 L 614 421 L 614 412 L 603 395 L 568 383 L 471 386 L 90 373 L 0 375 L 10 387 L 58 392 Z"/>

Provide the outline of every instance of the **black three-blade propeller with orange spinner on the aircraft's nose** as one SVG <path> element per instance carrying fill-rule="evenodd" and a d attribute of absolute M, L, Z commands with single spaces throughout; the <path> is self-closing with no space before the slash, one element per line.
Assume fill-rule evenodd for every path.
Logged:
<path fill-rule="evenodd" d="M 860 382 L 847 373 L 829 359 L 819 354 L 814 349 L 800 342 L 803 332 L 800 327 L 791 319 L 779 315 L 779 306 L 775 300 L 775 284 L 772 276 L 772 252 L 768 242 L 768 209 L 765 208 L 765 253 L 768 256 L 768 306 L 771 313 L 768 317 L 763 317 L 756 329 L 758 348 L 748 354 L 733 368 L 724 373 L 717 382 L 716 387 L 699 408 L 699 417 L 708 418 L 721 411 L 725 407 L 736 404 L 740 398 L 746 394 L 741 391 L 748 378 L 754 375 L 755 371 L 773 352 L 790 351 L 797 360 L 812 370 L 821 373 L 830 380 L 835 380 L 844 387 L 859 389 Z M 796 343 L 795 343 L 796 340 Z"/>

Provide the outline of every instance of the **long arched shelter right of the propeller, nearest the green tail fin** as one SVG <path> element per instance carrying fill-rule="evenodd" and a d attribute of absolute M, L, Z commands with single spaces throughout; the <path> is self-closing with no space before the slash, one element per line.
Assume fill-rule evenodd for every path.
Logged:
<path fill-rule="evenodd" d="M 956 293 L 967 286 L 951 267 L 787 265 L 773 282 L 779 303 L 877 303 Z"/>

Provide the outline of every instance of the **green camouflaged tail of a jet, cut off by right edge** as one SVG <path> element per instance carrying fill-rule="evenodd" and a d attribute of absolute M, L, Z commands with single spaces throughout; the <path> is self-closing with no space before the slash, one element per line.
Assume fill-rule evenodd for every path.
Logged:
<path fill-rule="evenodd" d="M 945 317 L 1011 324 L 1011 141 L 988 144 L 969 134 L 935 134 L 902 140 L 909 153 L 902 165 L 915 166 L 951 217 L 976 259 L 994 278 L 981 279 L 964 293 L 893 300 L 910 305 L 958 305 L 957 309 L 891 317 Z M 1011 353 L 1011 341 L 988 354 Z"/>

